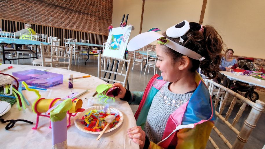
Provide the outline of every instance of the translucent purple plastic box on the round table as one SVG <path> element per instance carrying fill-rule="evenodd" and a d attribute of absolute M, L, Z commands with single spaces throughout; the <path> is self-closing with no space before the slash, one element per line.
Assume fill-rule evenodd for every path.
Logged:
<path fill-rule="evenodd" d="M 25 81 L 28 85 L 47 89 L 63 83 L 63 75 L 36 69 L 13 72 L 13 76 L 19 81 Z"/>

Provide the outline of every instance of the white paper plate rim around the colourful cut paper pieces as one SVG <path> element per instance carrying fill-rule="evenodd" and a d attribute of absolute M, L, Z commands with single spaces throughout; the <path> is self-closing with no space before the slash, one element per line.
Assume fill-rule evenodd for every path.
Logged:
<path fill-rule="evenodd" d="M 75 116 L 75 117 L 76 117 L 75 119 L 81 119 L 81 118 L 85 115 L 85 113 L 87 113 L 88 111 L 95 110 L 95 109 L 96 109 L 96 110 L 102 110 L 104 107 L 105 107 L 105 106 L 93 106 L 93 107 L 90 107 L 90 108 L 88 108 L 88 109 L 85 109 L 85 111 L 83 111 L 83 112 L 81 112 L 81 113 L 78 113 L 78 114 Z M 116 124 L 115 127 L 110 128 L 110 129 L 107 128 L 107 130 L 105 131 L 105 133 L 108 133 L 108 132 L 110 132 L 110 131 L 112 131 L 112 130 L 115 130 L 115 129 L 118 128 L 118 127 L 122 124 L 122 122 L 123 122 L 123 113 L 121 113 L 118 109 L 113 108 L 113 107 L 109 107 L 109 109 L 110 109 L 111 112 L 118 113 L 118 114 L 120 115 L 120 120 L 119 120 L 118 124 Z M 78 128 L 79 130 L 81 130 L 81 131 L 83 131 L 83 132 L 85 132 L 85 133 L 94 133 L 94 134 L 100 134 L 100 133 L 101 133 L 101 131 L 100 131 L 100 132 L 94 132 L 94 131 L 88 131 L 88 130 L 85 130 L 85 129 L 84 129 L 85 125 L 81 124 L 81 122 L 78 122 L 78 121 L 76 121 L 76 120 L 74 121 L 74 124 L 76 125 L 76 128 Z"/>

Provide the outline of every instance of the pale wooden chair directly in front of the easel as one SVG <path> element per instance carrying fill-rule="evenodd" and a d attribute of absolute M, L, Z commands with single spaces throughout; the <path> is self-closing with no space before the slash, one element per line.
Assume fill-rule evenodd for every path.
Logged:
<path fill-rule="evenodd" d="M 104 59 L 104 67 L 103 69 L 101 69 L 101 58 Z M 109 65 L 109 67 L 107 67 L 107 64 L 112 64 L 113 63 L 113 70 L 116 69 L 116 66 L 118 65 L 118 70 L 117 72 L 114 72 L 113 70 L 111 70 L 111 67 Z M 125 63 L 127 62 L 127 69 L 125 70 Z M 129 60 L 124 60 L 121 58 L 113 58 L 113 57 L 109 57 L 109 56 L 103 56 L 101 54 L 98 54 L 98 78 L 104 80 L 104 81 L 110 81 L 113 83 L 120 83 L 123 84 L 123 87 L 126 87 L 127 85 L 127 80 L 129 77 L 129 72 L 130 72 L 130 67 L 131 67 L 131 58 Z M 103 73 L 102 73 L 103 72 Z M 106 73 L 106 76 L 104 77 L 104 74 Z M 112 74 L 111 77 L 114 77 L 114 74 L 118 75 L 117 78 L 114 79 L 108 79 L 108 76 Z M 124 79 L 123 79 L 124 77 Z M 121 80 L 121 81 L 118 81 Z"/>

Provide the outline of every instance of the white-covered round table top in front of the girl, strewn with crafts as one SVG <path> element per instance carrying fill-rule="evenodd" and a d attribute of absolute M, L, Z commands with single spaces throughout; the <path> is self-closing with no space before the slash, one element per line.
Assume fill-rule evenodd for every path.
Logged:
<path fill-rule="evenodd" d="M 0 70 L 4 69 L 10 64 L 0 65 Z M 87 74 L 79 73 L 76 71 L 70 71 L 66 69 L 51 68 L 51 67 L 39 67 L 39 66 L 27 66 L 27 65 L 12 65 L 12 69 L 8 69 L 3 73 L 12 74 L 15 71 L 39 69 L 49 69 L 49 72 L 63 74 L 63 84 L 48 88 L 47 91 L 40 91 L 42 98 L 64 98 L 73 92 L 82 92 L 86 89 L 89 92 L 81 95 L 79 98 L 83 100 L 82 108 L 89 108 L 88 100 L 91 100 L 93 93 L 97 85 L 106 83 L 94 76 L 88 78 L 79 78 L 74 80 L 73 89 L 68 89 L 68 74 L 72 73 L 74 77 L 86 76 Z M 72 91 L 72 92 L 71 92 Z M 23 94 L 25 98 L 32 104 L 36 100 L 36 95 L 33 92 L 24 90 Z M 85 99 L 86 98 L 86 99 Z M 104 101 L 104 100 L 102 100 Z M 120 99 L 107 100 L 109 106 L 117 108 L 124 115 L 124 120 L 121 126 L 117 129 L 103 134 L 103 136 L 96 141 L 98 134 L 84 133 L 76 128 L 74 125 L 75 117 L 71 118 L 71 126 L 67 130 L 67 145 L 68 148 L 139 148 L 132 139 L 127 136 L 127 129 L 136 126 L 134 115 L 128 102 Z M 94 105 L 105 105 L 105 102 L 98 101 L 96 96 L 94 97 Z M 68 117 L 68 116 L 67 116 Z M 1 118 L 5 120 L 10 119 L 26 119 L 34 122 L 34 124 L 28 124 L 25 122 L 17 122 L 13 128 L 6 130 L 6 124 L 0 124 L 0 148 L 51 148 L 52 146 L 52 131 L 49 128 L 50 120 L 46 117 L 40 117 L 39 126 L 37 130 L 31 128 L 36 124 L 36 114 L 31 110 L 31 106 L 27 106 L 26 110 L 19 111 L 17 104 L 14 104 L 10 111 L 4 114 Z M 68 120 L 67 120 L 68 121 Z"/>

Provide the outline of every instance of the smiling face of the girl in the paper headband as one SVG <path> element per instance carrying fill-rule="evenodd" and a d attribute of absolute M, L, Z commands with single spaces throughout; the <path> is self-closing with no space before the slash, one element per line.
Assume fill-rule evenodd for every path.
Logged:
<path fill-rule="evenodd" d="M 162 71 L 162 76 L 164 81 L 176 82 L 178 80 L 178 64 L 173 65 L 172 58 L 165 52 L 167 48 L 165 45 L 157 44 L 156 45 L 156 55 L 157 62 L 156 67 Z"/>

